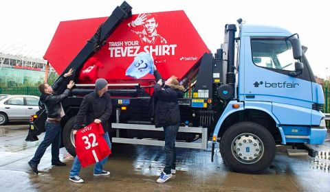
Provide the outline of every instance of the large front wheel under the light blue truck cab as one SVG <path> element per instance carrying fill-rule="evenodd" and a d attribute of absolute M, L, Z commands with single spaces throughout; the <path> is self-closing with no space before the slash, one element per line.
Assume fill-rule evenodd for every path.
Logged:
<path fill-rule="evenodd" d="M 232 171 L 260 173 L 275 156 L 275 141 L 270 132 L 258 123 L 236 123 L 225 131 L 220 141 L 223 161 Z"/>

